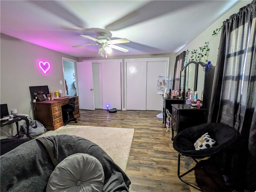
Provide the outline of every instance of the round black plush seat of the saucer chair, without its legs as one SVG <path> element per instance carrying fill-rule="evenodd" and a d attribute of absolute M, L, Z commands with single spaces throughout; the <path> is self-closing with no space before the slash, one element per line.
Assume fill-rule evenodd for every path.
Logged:
<path fill-rule="evenodd" d="M 196 150 L 194 143 L 207 132 L 216 141 L 214 146 L 204 150 Z M 206 157 L 229 146 L 236 138 L 237 132 L 234 128 L 221 123 L 206 123 L 179 132 L 174 137 L 173 148 L 185 156 Z"/>

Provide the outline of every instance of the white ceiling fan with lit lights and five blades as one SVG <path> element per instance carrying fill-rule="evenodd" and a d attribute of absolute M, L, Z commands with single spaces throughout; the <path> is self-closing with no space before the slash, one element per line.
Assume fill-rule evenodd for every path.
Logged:
<path fill-rule="evenodd" d="M 100 45 L 98 54 L 101 54 L 101 56 L 104 56 L 104 52 L 105 52 L 106 57 L 107 57 L 108 47 L 119 50 L 119 51 L 122 51 L 122 52 L 128 52 L 129 51 L 128 49 L 125 49 L 125 48 L 122 48 L 120 46 L 114 45 L 114 44 L 119 44 L 119 43 L 128 43 L 128 42 L 130 42 L 126 38 L 111 40 L 109 37 L 107 37 L 107 34 L 104 33 L 104 32 L 101 32 L 100 36 L 98 36 L 96 38 L 93 38 L 93 37 L 88 36 L 88 35 L 80 35 L 80 36 L 88 38 L 90 40 L 93 40 L 96 43 L 95 44 L 76 45 L 76 46 L 73 46 L 73 47 Z"/>

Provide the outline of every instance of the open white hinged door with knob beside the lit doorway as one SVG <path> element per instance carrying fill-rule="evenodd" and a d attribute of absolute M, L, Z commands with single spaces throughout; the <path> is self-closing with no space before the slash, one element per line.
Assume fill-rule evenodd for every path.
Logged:
<path fill-rule="evenodd" d="M 80 109 L 95 110 L 92 62 L 76 62 L 76 74 Z"/>

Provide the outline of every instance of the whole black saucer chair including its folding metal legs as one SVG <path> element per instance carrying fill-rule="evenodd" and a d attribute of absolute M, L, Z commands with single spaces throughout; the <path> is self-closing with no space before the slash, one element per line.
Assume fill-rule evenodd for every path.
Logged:
<path fill-rule="evenodd" d="M 215 144 L 206 149 L 196 150 L 194 143 L 200 138 L 203 134 L 209 134 L 210 138 L 215 140 Z M 202 160 L 209 160 L 211 156 L 217 154 L 227 146 L 230 146 L 237 138 L 237 132 L 234 128 L 220 123 L 206 123 L 198 126 L 193 126 L 190 128 L 186 128 L 179 132 L 173 140 L 173 148 L 179 152 L 178 154 L 178 178 L 188 184 L 189 186 L 201 191 L 198 186 L 194 186 L 182 179 L 183 176 L 195 170 L 198 166 L 200 166 L 199 162 Z M 183 174 L 180 174 L 180 157 L 188 156 L 191 157 L 194 162 L 196 162 L 196 166 L 189 169 Z M 202 167 L 201 167 L 202 168 Z M 203 169 L 203 168 L 202 168 Z M 203 169 L 204 170 L 204 169 Z M 214 182 L 217 186 L 218 183 L 214 181 L 214 179 L 204 170 L 206 175 Z"/>

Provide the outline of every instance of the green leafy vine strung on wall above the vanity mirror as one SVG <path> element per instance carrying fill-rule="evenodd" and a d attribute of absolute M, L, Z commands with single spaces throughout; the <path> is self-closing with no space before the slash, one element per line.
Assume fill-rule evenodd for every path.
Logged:
<path fill-rule="evenodd" d="M 222 27 L 220 28 L 216 28 L 216 30 L 214 30 L 212 32 L 212 36 L 213 38 L 215 36 L 217 36 L 222 30 Z M 208 62 L 208 56 L 209 56 L 209 41 L 205 42 L 203 46 L 199 47 L 198 49 L 193 49 L 192 51 L 186 51 L 187 54 L 191 53 L 190 55 L 190 59 L 188 60 L 188 62 L 190 61 L 196 61 L 196 62 L 201 62 L 202 60 L 204 60 L 205 63 Z"/>

